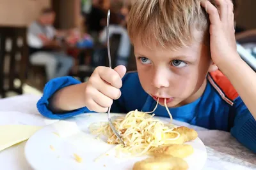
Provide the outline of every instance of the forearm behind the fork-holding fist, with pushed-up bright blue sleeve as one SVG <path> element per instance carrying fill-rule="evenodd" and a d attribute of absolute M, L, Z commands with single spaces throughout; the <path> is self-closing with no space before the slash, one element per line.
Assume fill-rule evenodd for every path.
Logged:
<path fill-rule="evenodd" d="M 45 117 L 56 119 L 88 112 L 89 110 L 82 106 L 82 87 L 83 83 L 71 76 L 52 79 L 45 85 L 44 94 L 37 103 L 38 111 Z"/>

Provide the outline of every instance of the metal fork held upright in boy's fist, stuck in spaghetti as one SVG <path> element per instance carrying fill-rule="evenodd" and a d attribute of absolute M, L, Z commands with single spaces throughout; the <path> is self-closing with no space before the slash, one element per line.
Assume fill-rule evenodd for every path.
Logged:
<path fill-rule="evenodd" d="M 107 20 L 107 43 L 108 43 L 108 61 L 109 61 L 109 67 L 112 68 L 111 66 L 111 55 L 110 55 L 110 48 L 109 48 L 109 17 L 110 17 L 110 10 L 108 10 L 108 20 Z M 124 141 L 122 141 L 121 139 L 121 136 L 120 134 L 116 131 L 114 125 L 112 124 L 111 122 L 111 119 L 110 119 L 110 109 L 111 109 L 111 106 L 108 108 L 108 121 L 109 121 L 109 125 L 112 129 L 112 131 L 115 133 L 116 137 L 121 141 L 122 145 L 125 146 L 125 143 Z"/>

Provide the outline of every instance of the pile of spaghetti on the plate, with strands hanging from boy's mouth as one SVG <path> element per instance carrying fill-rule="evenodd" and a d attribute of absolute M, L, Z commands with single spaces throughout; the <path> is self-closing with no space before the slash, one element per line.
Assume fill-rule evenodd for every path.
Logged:
<path fill-rule="evenodd" d="M 166 100 L 164 105 L 172 122 L 172 115 L 166 106 Z M 154 149 L 168 143 L 170 140 L 176 140 L 180 137 L 179 132 L 173 131 L 173 127 L 155 119 L 154 114 L 149 114 L 153 113 L 156 108 L 157 105 L 151 112 L 130 111 L 125 117 L 117 117 L 113 120 L 113 125 L 125 143 L 125 147 L 117 147 L 118 150 L 132 156 L 141 156 L 154 151 Z M 92 124 L 90 125 L 90 131 L 92 134 L 106 136 L 109 144 L 121 145 L 108 122 Z M 175 134 L 174 138 L 172 137 L 173 134 Z"/>

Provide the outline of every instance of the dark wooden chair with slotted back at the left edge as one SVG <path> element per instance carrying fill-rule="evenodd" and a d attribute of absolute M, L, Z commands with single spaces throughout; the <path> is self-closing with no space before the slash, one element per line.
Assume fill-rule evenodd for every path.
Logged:
<path fill-rule="evenodd" d="M 22 94 L 28 69 L 28 46 L 26 43 L 26 27 L 0 27 L 0 95 L 6 92 Z M 14 80 L 20 80 L 15 87 Z"/>

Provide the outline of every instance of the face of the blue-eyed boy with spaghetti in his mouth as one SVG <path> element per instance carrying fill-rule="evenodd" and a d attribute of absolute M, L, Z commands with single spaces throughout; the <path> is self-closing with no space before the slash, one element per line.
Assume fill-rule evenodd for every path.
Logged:
<path fill-rule="evenodd" d="M 196 38 L 196 34 L 195 34 Z M 141 85 L 159 104 L 177 107 L 202 96 L 211 63 L 209 46 L 193 41 L 193 45 L 178 50 L 147 48 L 134 42 L 134 54 Z M 215 68 L 215 67 L 214 67 Z"/>

